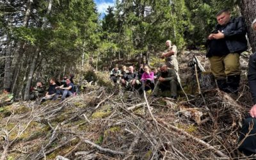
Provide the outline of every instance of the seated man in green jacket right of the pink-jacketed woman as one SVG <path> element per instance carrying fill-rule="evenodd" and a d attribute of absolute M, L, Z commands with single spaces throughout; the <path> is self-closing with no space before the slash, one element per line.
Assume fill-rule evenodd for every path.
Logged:
<path fill-rule="evenodd" d="M 171 98 L 177 99 L 177 74 L 172 68 L 168 68 L 165 64 L 160 65 L 160 73 L 157 75 L 157 84 L 153 92 L 153 96 L 157 97 L 159 89 L 170 90 Z"/>

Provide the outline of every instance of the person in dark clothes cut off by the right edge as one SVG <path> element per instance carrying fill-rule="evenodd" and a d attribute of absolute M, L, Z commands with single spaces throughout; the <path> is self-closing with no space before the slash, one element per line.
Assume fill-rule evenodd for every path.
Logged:
<path fill-rule="evenodd" d="M 252 22 L 252 29 L 256 31 L 256 19 Z M 242 134 L 239 137 L 239 150 L 250 156 L 256 154 L 256 52 L 250 56 L 248 65 L 248 83 L 254 105 L 250 109 L 250 116 L 244 120 Z"/>

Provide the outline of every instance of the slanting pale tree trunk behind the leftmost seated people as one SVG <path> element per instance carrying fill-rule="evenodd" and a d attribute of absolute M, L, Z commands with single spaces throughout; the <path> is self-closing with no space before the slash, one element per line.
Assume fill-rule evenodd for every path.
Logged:
<path fill-rule="evenodd" d="M 49 0 L 49 4 L 48 4 L 48 7 L 47 7 L 47 13 L 46 13 L 46 15 L 45 15 L 45 17 L 43 19 L 43 24 L 42 24 L 42 29 L 43 30 L 47 26 L 47 18 L 46 17 L 51 12 L 51 8 L 52 8 L 52 0 Z M 30 89 L 30 86 L 31 86 L 31 83 L 32 83 L 32 79 L 33 79 L 34 73 L 35 73 L 36 61 L 37 61 L 37 58 L 39 57 L 39 54 L 40 54 L 40 48 L 37 47 L 36 48 L 36 52 L 35 52 L 35 56 L 33 58 L 31 67 L 29 69 L 28 80 L 26 82 L 26 88 L 25 88 L 25 93 L 24 93 L 24 100 L 28 100 L 29 99 L 29 89 Z"/>

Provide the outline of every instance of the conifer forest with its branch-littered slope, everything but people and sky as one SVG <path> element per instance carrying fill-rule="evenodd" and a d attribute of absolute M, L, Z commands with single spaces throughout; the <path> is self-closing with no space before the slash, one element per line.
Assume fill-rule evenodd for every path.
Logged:
<path fill-rule="evenodd" d="M 1 159 L 244 158 L 235 145 L 246 112 L 243 105 L 252 105 L 245 78 L 248 57 L 241 65 L 245 87 L 238 97 L 218 90 L 205 92 L 209 99 L 189 99 L 182 93 L 184 99 L 177 104 L 168 97 L 148 104 L 147 98 L 120 93 L 103 71 L 116 64 L 157 67 L 166 40 L 177 45 L 181 78 L 188 78 L 193 54 L 209 68 L 205 43 L 223 8 L 244 18 L 250 45 L 246 52 L 252 54 L 255 6 L 250 0 L 116 0 L 100 18 L 93 0 L 0 0 L 0 89 L 10 88 L 17 102 L 0 108 L 5 135 Z M 98 82 L 60 104 L 29 102 L 36 82 L 48 84 L 51 77 L 60 80 L 70 74 L 77 83 L 92 74 Z M 182 83 L 189 90 L 189 80 Z M 154 115 L 151 106 L 157 108 Z M 196 127 L 188 116 L 173 125 L 186 110 L 177 108 L 208 115 L 205 121 L 194 119 Z"/>

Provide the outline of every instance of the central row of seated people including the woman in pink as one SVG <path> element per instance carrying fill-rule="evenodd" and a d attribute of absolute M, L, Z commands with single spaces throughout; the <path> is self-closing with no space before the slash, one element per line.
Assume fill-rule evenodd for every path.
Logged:
<path fill-rule="evenodd" d="M 118 65 L 110 72 L 111 80 L 116 84 L 122 84 L 126 89 L 136 89 L 138 92 L 152 90 L 152 95 L 157 97 L 159 90 L 170 90 L 171 98 L 177 99 L 177 74 L 173 68 L 168 68 L 165 64 L 159 68 L 151 69 L 148 65 L 140 65 L 138 72 L 134 71 L 131 65 L 122 66 L 119 70 Z"/>

